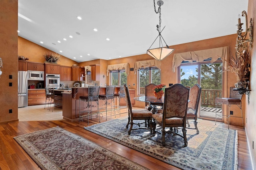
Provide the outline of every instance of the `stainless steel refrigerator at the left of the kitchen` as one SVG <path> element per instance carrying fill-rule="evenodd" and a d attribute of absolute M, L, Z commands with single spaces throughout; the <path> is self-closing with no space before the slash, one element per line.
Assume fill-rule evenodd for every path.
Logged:
<path fill-rule="evenodd" d="M 28 106 L 28 71 L 18 71 L 18 107 Z"/>

